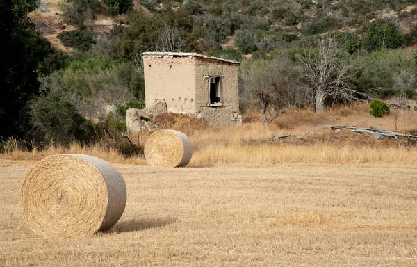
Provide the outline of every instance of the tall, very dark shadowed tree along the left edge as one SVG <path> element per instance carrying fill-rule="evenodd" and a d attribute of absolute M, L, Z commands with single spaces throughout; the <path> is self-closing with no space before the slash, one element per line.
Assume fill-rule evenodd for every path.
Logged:
<path fill-rule="evenodd" d="M 30 129 L 28 104 L 41 95 L 38 67 L 51 45 L 27 15 L 35 0 L 0 1 L 0 136 L 23 136 Z M 46 70 L 46 72 L 48 72 Z"/>

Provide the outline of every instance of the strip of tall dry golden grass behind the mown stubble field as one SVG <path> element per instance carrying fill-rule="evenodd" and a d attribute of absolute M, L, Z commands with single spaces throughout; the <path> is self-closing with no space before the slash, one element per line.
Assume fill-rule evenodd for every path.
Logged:
<path fill-rule="evenodd" d="M 165 129 L 181 131 L 190 138 L 193 143 L 193 159 L 189 164 L 191 167 L 230 163 L 417 163 L 416 146 L 407 146 L 402 139 L 375 141 L 370 139 L 369 134 L 349 130 L 332 131 L 325 127 L 326 124 L 344 124 L 396 131 L 417 129 L 417 111 L 393 110 L 384 118 L 374 118 L 368 109 L 367 104 L 357 104 L 339 106 L 323 113 L 290 111 L 280 115 L 272 124 L 262 123 L 261 116 L 256 112 L 245 115 L 246 123 L 235 127 L 210 127 L 186 115 L 165 114 L 159 120 Z M 291 135 L 291 138 L 256 145 L 257 140 L 285 135 Z M 135 142 L 143 146 L 148 136 L 139 136 Z M 300 140 L 300 136 L 304 136 L 304 140 Z M 253 145 L 247 145 L 251 142 Z M 81 147 L 72 144 L 68 148 L 50 146 L 46 150 L 29 153 L 12 144 L 6 150 L 0 159 L 38 161 L 51 154 L 71 153 L 90 154 L 113 163 L 146 165 L 143 157 L 126 158 L 116 149 L 104 148 L 102 145 Z"/>

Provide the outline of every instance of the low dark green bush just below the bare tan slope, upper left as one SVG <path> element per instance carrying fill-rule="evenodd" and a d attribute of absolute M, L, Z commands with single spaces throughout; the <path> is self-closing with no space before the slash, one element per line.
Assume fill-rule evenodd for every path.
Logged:
<path fill-rule="evenodd" d="M 94 35 L 93 31 L 63 31 L 56 35 L 56 37 L 63 42 L 65 47 L 74 47 L 79 51 L 88 51 L 91 48 L 91 45 L 94 44 Z"/>

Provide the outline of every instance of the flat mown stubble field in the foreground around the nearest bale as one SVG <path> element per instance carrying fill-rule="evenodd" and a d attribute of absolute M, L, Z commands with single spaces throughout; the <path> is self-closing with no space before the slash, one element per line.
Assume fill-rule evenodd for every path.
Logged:
<path fill-rule="evenodd" d="M 417 266 L 415 165 L 115 164 L 119 223 L 44 239 L 19 208 L 30 161 L 0 161 L 0 266 Z"/>

